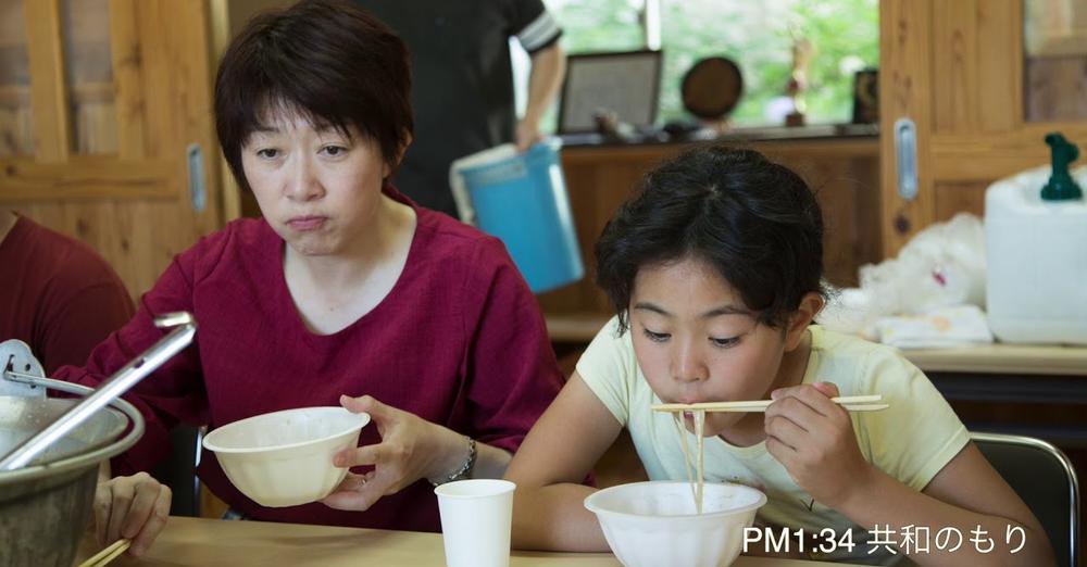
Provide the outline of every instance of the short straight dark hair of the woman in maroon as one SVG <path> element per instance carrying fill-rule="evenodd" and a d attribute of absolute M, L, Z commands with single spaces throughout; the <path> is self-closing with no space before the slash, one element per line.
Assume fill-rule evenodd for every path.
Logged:
<path fill-rule="evenodd" d="M 413 126 L 408 48 L 385 24 L 340 0 L 303 0 L 252 18 L 215 77 L 215 129 L 238 185 L 241 148 L 268 110 L 373 139 L 391 167 Z"/>

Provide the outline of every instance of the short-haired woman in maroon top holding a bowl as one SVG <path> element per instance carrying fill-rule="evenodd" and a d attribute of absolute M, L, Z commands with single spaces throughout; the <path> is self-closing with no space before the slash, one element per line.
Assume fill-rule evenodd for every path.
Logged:
<path fill-rule="evenodd" d="M 115 472 L 164 456 L 178 421 L 214 428 L 342 404 L 374 426 L 335 464 L 368 471 L 322 503 L 261 507 L 213 455 L 201 479 L 254 519 L 436 531 L 432 482 L 501 477 L 561 375 L 502 244 L 388 182 L 411 141 L 409 90 L 404 45 L 343 2 L 261 15 L 234 40 L 216 77 L 216 127 L 264 218 L 178 255 L 133 322 L 85 369 L 62 373 L 98 383 L 161 337 L 155 314 L 196 316 L 196 344 L 129 396 L 148 431 Z M 170 493 L 137 474 L 103 482 L 97 500 L 100 542 L 133 538 L 139 555 Z"/>

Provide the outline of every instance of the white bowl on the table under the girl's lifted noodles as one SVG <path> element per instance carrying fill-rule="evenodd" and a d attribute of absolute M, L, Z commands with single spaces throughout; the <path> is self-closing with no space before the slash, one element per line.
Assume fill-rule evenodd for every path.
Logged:
<path fill-rule="evenodd" d="M 740 554 L 744 528 L 765 503 L 755 489 L 707 482 L 702 513 L 696 514 L 691 484 L 678 481 L 620 484 L 585 499 L 626 567 L 730 565 Z"/>

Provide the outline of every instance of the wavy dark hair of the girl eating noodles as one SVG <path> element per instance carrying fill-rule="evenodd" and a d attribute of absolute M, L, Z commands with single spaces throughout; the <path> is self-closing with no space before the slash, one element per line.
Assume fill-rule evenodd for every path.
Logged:
<path fill-rule="evenodd" d="M 772 327 L 805 293 L 824 293 L 815 197 L 796 173 L 752 150 L 699 147 L 650 172 L 608 222 L 596 257 L 621 331 L 638 269 L 688 257 L 713 266 Z"/>

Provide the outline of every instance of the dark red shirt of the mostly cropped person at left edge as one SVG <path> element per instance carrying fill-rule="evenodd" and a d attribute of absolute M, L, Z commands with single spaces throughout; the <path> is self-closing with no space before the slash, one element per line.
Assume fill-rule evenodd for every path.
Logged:
<path fill-rule="evenodd" d="M 23 216 L 0 241 L 0 341 L 27 343 L 46 375 L 87 362 L 135 312 L 101 256 Z"/>

